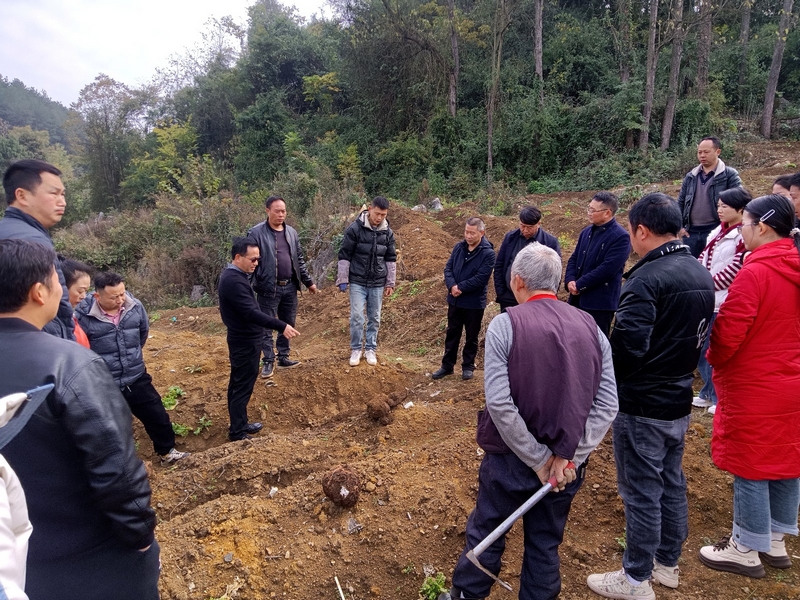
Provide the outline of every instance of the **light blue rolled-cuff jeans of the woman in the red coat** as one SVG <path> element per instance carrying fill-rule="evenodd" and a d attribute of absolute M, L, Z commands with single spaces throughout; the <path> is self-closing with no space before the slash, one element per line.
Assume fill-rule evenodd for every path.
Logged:
<path fill-rule="evenodd" d="M 769 552 L 770 535 L 797 535 L 800 479 L 753 481 L 734 476 L 733 539 L 744 546 Z"/>

